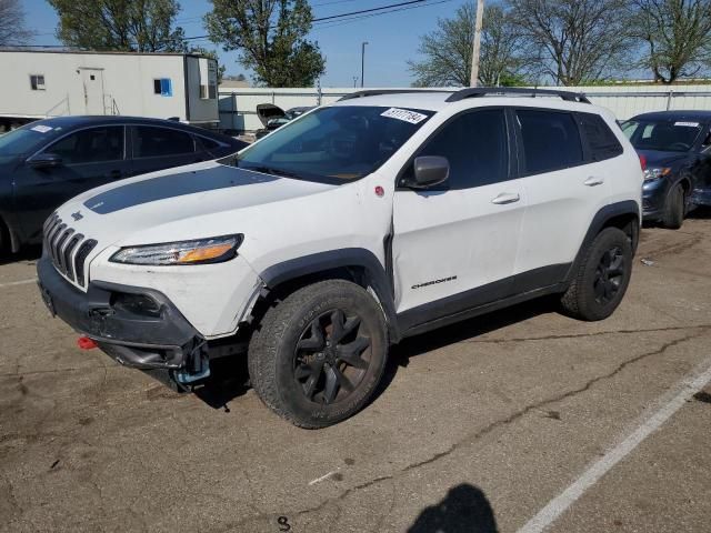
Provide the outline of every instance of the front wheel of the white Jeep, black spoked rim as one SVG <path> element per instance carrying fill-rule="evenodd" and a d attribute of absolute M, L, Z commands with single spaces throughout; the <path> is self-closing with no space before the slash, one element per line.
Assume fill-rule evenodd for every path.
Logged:
<path fill-rule="evenodd" d="M 277 414 L 301 428 L 326 428 L 368 402 L 388 348 L 373 296 L 348 281 L 322 281 L 267 311 L 250 342 L 249 374 Z"/>

